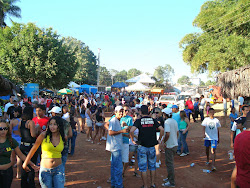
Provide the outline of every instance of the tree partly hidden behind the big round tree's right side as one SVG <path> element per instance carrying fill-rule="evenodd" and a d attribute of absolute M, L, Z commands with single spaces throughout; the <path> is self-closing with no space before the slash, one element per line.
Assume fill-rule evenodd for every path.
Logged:
<path fill-rule="evenodd" d="M 75 57 L 79 67 L 74 81 L 79 84 L 97 84 L 97 64 L 94 53 L 85 43 L 75 38 L 64 38 L 64 43 L 71 48 L 72 52 L 76 52 Z"/>

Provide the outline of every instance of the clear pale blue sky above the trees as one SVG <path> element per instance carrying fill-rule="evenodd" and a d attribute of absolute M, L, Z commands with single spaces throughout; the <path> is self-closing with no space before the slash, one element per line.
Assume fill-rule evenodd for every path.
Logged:
<path fill-rule="evenodd" d="M 83 41 L 108 69 L 137 68 L 153 74 L 170 64 L 174 81 L 192 76 L 182 60 L 179 41 L 199 31 L 192 26 L 205 0 L 21 0 L 16 22 L 52 27 L 61 36 Z M 206 81 L 206 75 L 199 75 Z"/>

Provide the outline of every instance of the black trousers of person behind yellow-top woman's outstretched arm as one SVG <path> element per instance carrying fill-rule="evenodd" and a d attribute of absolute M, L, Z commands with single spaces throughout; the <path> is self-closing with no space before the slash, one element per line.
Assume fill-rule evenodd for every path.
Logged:
<path fill-rule="evenodd" d="M 20 150 L 22 151 L 22 153 L 24 155 L 27 156 L 32 147 L 33 147 L 33 145 L 24 146 L 23 144 L 21 144 Z M 36 162 L 37 162 L 38 152 L 39 151 L 37 150 L 36 153 L 31 158 L 31 161 L 34 164 L 36 164 Z M 28 167 L 30 168 L 29 172 L 26 172 L 23 168 L 21 168 L 21 188 L 35 188 L 36 187 L 36 185 L 35 185 L 35 171 L 33 168 L 31 168 L 30 165 L 28 165 Z"/>

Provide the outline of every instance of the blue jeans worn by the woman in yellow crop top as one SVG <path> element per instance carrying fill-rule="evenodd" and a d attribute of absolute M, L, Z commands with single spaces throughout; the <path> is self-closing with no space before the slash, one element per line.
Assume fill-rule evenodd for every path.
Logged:
<path fill-rule="evenodd" d="M 40 167 L 39 182 L 42 188 L 64 188 L 65 175 L 63 165 L 55 168 Z"/>

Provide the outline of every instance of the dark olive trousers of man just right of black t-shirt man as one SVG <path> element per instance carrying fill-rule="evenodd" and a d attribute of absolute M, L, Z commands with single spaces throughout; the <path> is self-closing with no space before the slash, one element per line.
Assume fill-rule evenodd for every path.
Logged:
<path fill-rule="evenodd" d="M 174 174 L 174 155 L 177 147 L 165 149 L 165 163 L 168 171 L 168 180 L 171 185 L 175 185 L 175 174 Z"/>

